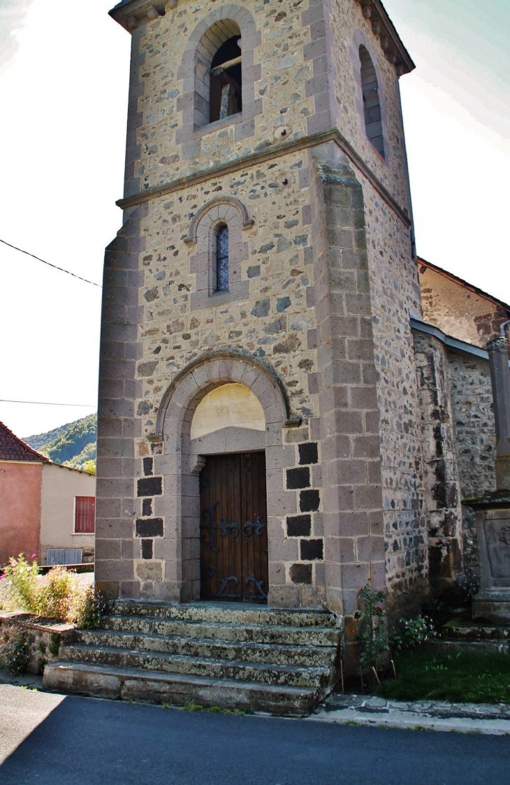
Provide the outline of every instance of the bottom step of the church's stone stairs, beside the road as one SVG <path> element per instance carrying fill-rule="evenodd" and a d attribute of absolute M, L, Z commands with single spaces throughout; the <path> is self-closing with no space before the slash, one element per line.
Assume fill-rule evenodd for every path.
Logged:
<path fill-rule="evenodd" d="M 185 706 L 219 706 L 307 717 L 322 699 L 316 689 L 245 683 L 129 670 L 81 663 L 53 663 L 44 672 L 47 689 L 75 695 Z"/>

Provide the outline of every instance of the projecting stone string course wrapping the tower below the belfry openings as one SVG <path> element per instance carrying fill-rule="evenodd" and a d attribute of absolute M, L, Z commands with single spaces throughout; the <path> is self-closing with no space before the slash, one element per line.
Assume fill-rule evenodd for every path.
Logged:
<path fill-rule="evenodd" d="M 130 207 L 135 207 L 144 202 L 149 202 L 151 199 L 158 199 L 160 196 L 166 196 L 167 194 L 176 191 L 182 191 L 184 188 L 190 188 L 193 185 L 203 183 L 210 180 L 212 177 L 223 177 L 225 174 L 236 172 L 239 169 L 246 169 L 246 166 L 257 166 L 265 161 L 281 158 L 283 155 L 290 155 L 290 153 L 313 148 L 319 144 L 325 144 L 330 141 L 337 144 L 341 151 L 347 155 L 353 166 L 370 181 L 370 184 L 376 189 L 377 193 L 381 196 L 381 199 L 384 199 L 384 202 L 392 208 L 400 221 L 406 225 L 406 228 L 410 228 L 411 221 L 409 215 L 406 214 L 406 211 L 403 210 L 396 199 L 394 199 L 392 194 L 388 191 L 388 188 L 386 188 L 372 170 L 370 170 L 369 166 L 366 166 L 366 163 L 361 156 L 355 152 L 355 149 L 349 144 L 344 136 L 342 136 L 337 128 L 330 128 L 329 130 L 321 131 L 320 133 L 312 133 L 308 137 L 302 137 L 301 139 L 293 141 L 268 144 L 263 150 L 250 153 L 250 155 L 243 155 L 242 158 L 239 158 L 236 161 L 231 161 L 222 164 L 221 166 L 211 166 L 209 169 L 188 174 L 186 177 L 178 177 L 176 180 L 171 180 L 168 183 L 147 188 L 145 191 L 126 197 L 126 199 L 118 199 L 116 204 L 122 210 L 129 210 Z"/>

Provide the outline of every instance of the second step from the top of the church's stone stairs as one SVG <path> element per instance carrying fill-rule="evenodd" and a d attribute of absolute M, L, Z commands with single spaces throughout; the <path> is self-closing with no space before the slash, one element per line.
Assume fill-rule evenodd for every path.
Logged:
<path fill-rule="evenodd" d="M 234 624 L 188 622 L 179 619 L 159 619 L 147 616 L 106 616 L 103 629 L 112 632 L 137 632 L 148 635 L 177 635 L 180 637 L 232 641 L 238 643 L 281 644 L 292 646 L 333 647 L 338 645 L 338 630 L 319 626 L 269 626 L 267 624 Z"/>

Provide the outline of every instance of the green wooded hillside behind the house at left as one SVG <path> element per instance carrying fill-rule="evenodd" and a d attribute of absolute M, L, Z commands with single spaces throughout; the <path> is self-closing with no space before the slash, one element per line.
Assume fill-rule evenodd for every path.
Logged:
<path fill-rule="evenodd" d="M 55 463 L 82 469 L 87 461 L 96 460 L 97 414 L 68 422 L 48 433 L 27 436 L 24 442 Z"/>

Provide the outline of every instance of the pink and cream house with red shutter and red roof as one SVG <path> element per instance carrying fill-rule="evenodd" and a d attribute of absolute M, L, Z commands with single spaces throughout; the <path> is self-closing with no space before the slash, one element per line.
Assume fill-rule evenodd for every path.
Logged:
<path fill-rule="evenodd" d="M 0 422 L 0 566 L 93 561 L 96 478 L 52 463 Z"/>

